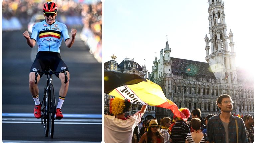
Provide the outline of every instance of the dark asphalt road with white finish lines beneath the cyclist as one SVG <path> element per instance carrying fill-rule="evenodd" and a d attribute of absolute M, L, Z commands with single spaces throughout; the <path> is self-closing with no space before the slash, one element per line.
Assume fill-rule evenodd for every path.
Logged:
<path fill-rule="evenodd" d="M 89 53 L 89 48 L 80 39 L 80 30 L 73 47 L 67 48 L 63 42 L 60 48 L 61 57 L 69 68 L 70 81 L 62 106 L 64 118 L 55 122 L 53 139 L 44 136 L 41 119 L 33 117 L 34 100 L 29 92 L 29 70 L 37 47 L 27 45 L 22 35 L 24 31 L 2 32 L 3 142 L 101 142 L 102 64 Z M 40 101 L 45 83 L 44 75 L 38 84 Z M 58 101 L 60 80 L 55 76 L 53 85 Z"/>

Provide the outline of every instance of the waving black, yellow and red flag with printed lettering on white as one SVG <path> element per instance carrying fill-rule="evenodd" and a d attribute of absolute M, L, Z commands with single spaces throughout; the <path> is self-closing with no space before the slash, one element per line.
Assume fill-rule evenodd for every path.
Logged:
<path fill-rule="evenodd" d="M 105 70 L 104 93 L 134 104 L 167 108 L 177 117 L 187 120 L 177 105 L 165 97 L 159 85 L 135 74 Z"/>

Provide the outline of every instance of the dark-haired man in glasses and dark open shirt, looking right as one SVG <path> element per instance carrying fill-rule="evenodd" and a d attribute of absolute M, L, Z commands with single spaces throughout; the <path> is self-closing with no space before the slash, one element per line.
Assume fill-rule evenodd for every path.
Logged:
<path fill-rule="evenodd" d="M 208 121 L 207 143 L 248 143 L 243 120 L 231 114 L 233 103 L 231 96 L 227 94 L 221 95 L 217 99 L 216 104 L 221 113 L 211 117 Z"/>

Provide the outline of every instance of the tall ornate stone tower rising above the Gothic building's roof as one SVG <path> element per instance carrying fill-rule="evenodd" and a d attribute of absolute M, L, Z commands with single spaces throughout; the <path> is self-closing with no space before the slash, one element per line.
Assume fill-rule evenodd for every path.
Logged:
<path fill-rule="evenodd" d="M 227 35 L 227 25 L 225 22 L 224 3 L 222 0 L 208 0 L 209 31 L 210 40 L 207 34 L 205 40 L 206 61 L 209 63 L 212 72 L 220 83 L 237 84 L 236 64 L 234 52 L 233 33 Z M 228 48 L 228 39 L 230 41 Z M 211 45 L 211 54 L 209 54 Z"/>

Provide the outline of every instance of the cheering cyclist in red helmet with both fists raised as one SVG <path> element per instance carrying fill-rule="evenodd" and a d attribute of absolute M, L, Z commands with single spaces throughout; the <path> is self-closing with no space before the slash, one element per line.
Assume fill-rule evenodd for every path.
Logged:
<path fill-rule="evenodd" d="M 56 107 L 56 119 L 63 118 L 61 107 L 68 90 L 69 72 L 66 64 L 61 59 L 59 48 L 62 39 L 64 39 L 68 48 L 72 47 L 77 30 L 71 29 L 70 38 L 66 25 L 56 21 L 57 10 L 57 5 L 54 2 L 45 3 L 43 6 L 45 20 L 33 25 L 31 37 L 28 31 L 23 33 L 23 36 L 27 40 L 27 44 L 31 48 L 35 46 L 36 42 L 38 44 L 38 53 L 29 73 L 29 89 L 35 101 L 34 116 L 36 118 L 41 118 L 41 104 L 39 101 L 38 86 L 35 84 L 35 72 L 38 69 L 41 71 L 48 71 L 49 68 L 53 71 L 62 71 L 65 69 L 67 72 L 68 81 L 66 84 L 64 83 L 64 73 L 55 74 L 61 80 L 59 101 Z M 42 75 L 43 74 L 40 74 L 40 76 L 38 76 L 38 82 Z"/>

